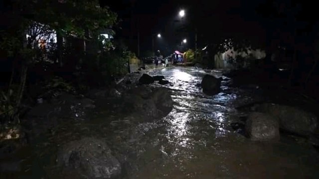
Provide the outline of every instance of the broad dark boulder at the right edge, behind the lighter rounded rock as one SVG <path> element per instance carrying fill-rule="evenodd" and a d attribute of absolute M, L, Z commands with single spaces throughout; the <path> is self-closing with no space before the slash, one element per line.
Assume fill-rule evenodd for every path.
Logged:
<path fill-rule="evenodd" d="M 297 107 L 262 103 L 256 105 L 254 109 L 272 114 L 279 119 L 281 129 L 299 135 L 309 135 L 318 127 L 316 115 Z"/>

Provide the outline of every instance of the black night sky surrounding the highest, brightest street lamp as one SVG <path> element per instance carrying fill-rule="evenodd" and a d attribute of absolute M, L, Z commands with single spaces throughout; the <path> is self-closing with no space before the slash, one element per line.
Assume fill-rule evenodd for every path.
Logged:
<path fill-rule="evenodd" d="M 183 38 L 193 48 L 195 27 L 199 48 L 206 45 L 208 33 L 212 34 L 210 41 L 235 34 L 264 43 L 266 30 L 289 31 L 291 22 L 285 19 L 295 17 L 287 14 L 310 13 L 304 7 L 312 5 L 301 3 L 297 0 L 101 0 L 101 5 L 110 6 L 122 19 L 117 37 L 126 39 L 134 52 L 137 52 L 139 32 L 141 53 L 152 50 L 152 35 L 159 32 L 162 38 L 155 38 L 156 48 L 171 51 Z M 183 19 L 178 17 L 180 9 L 186 12 Z M 303 19 L 299 19 L 300 24 L 306 26 Z"/>

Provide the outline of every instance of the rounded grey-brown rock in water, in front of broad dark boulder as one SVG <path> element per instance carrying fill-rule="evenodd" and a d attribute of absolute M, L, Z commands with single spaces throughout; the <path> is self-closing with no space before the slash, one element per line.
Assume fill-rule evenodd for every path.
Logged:
<path fill-rule="evenodd" d="M 246 121 L 245 131 L 253 141 L 278 140 L 280 138 L 277 119 L 267 113 L 251 113 Z"/>

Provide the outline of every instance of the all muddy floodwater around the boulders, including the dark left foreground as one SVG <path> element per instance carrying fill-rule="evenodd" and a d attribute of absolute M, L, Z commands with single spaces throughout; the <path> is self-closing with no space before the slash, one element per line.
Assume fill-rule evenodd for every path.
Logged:
<path fill-rule="evenodd" d="M 55 152 L 60 143 L 82 136 L 106 139 L 114 155 L 125 158 L 124 179 L 319 178 L 319 153 L 307 142 L 289 135 L 276 143 L 252 142 L 234 131 L 232 123 L 242 123 L 245 115 L 235 107 L 261 100 L 259 90 L 230 88 L 225 79 L 221 92 L 209 96 L 198 85 L 203 70 L 176 67 L 150 74 L 172 83 L 167 87 L 173 109 L 166 117 L 134 123 L 134 116 L 100 112 L 90 121 L 64 124 L 48 135 L 50 143 L 24 149 L 32 155 L 17 178 L 77 178 L 59 176 Z"/>

